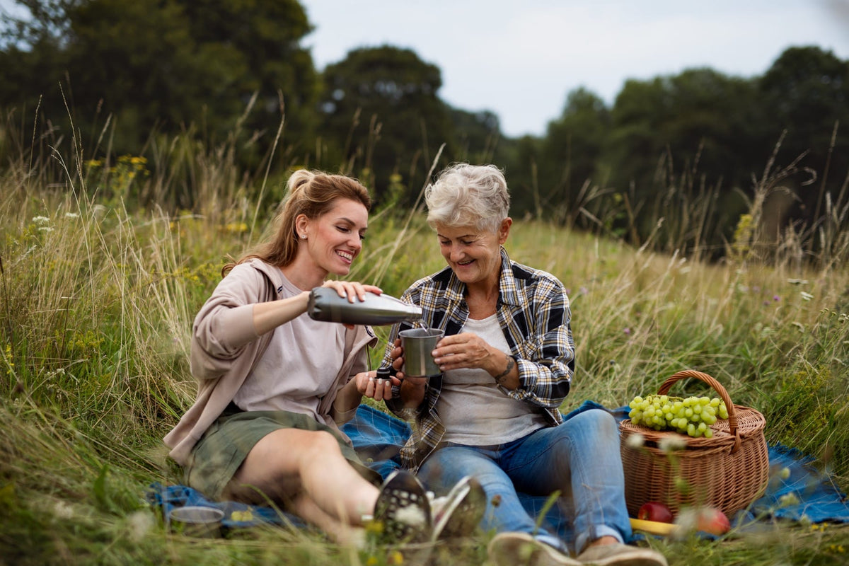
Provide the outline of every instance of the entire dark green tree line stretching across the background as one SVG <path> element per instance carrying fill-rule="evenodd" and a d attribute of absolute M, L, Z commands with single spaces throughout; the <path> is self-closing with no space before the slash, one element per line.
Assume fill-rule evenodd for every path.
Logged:
<path fill-rule="evenodd" d="M 231 143 L 245 171 L 345 172 L 403 208 L 437 156 L 437 168 L 492 162 L 514 216 L 711 257 L 756 204 L 761 238 L 790 231 L 809 251 L 846 213 L 849 61 L 816 46 L 787 48 L 760 76 L 629 80 L 610 105 L 578 88 L 542 136 L 510 138 L 498 115 L 441 100 L 439 68 L 409 49 L 357 48 L 316 69 L 297 0 L 16 3 L 27 17 L 3 14 L 0 29 L 3 163 L 32 132 L 76 135 L 92 159 L 180 134 Z M 190 180 L 166 196 L 196 205 Z"/>

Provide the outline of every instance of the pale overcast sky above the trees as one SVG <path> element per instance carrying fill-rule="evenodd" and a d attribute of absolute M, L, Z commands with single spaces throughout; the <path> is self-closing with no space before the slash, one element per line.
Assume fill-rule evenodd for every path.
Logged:
<path fill-rule="evenodd" d="M 849 0 L 301 0 L 319 70 L 358 47 L 411 48 L 439 96 L 489 109 L 510 136 L 541 135 L 566 95 L 612 104 L 628 78 L 707 66 L 761 75 L 790 46 L 849 59 Z"/>

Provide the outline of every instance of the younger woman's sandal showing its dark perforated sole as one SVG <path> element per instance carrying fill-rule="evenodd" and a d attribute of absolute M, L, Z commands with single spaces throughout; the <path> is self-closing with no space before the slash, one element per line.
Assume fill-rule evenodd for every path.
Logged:
<path fill-rule="evenodd" d="M 430 541 L 430 502 L 419 479 L 406 470 L 390 474 L 374 503 L 374 520 L 382 524 L 380 541 L 385 544 Z"/>

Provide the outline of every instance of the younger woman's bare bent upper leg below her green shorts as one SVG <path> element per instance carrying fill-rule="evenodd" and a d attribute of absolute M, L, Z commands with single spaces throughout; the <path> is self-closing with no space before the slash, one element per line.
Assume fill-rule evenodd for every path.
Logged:
<path fill-rule="evenodd" d="M 332 434 L 278 429 L 250 450 L 224 495 L 250 502 L 269 497 L 290 507 L 300 501 L 293 510 L 324 528 L 328 518 L 362 525 L 379 492 L 342 456 Z"/>

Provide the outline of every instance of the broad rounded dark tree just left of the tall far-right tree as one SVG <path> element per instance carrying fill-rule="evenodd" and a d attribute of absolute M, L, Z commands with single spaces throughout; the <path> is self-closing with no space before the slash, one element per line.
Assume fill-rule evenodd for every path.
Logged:
<path fill-rule="evenodd" d="M 600 166 L 632 206 L 629 233 L 646 238 L 673 210 L 680 222 L 671 225 L 667 218 L 661 245 L 698 240 L 701 247 L 721 249 L 745 205 L 737 191 L 751 192 L 751 176 L 769 154 L 755 81 L 711 69 L 627 81 L 611 118 Z M 714 200 L 718 207 L 710 204 Z M 684 224 L 702 211 L 695 208 L 709 205 L 726 216 L 722 229 L 689 233 Z M 640 207 L 646 208 L 638 213 Z"/>

